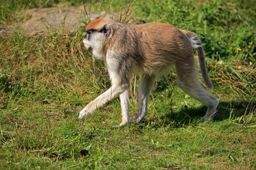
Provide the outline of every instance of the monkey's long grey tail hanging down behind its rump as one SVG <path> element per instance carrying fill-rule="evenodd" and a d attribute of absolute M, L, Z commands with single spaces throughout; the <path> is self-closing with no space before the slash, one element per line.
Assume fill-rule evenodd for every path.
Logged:
<path fill-rule="evenodd" d="M 212 85 L 212 82 L 209 79 L 209 76 L 207 74 L 207 68 L 206 68 L 205 57 L 204 57 L 204 48 L 203 48 L 200 38 L 195 33 L 191 32 L 191 31 L 187 31 L 187 30 L 181 30 L 181 31 L 184 34 L 186 34 L 186 36 L 188 37 L 189 41 L 192 44 L 192 47 L 197 49 L 200 68 L 201 68 L 204 82 L 208 88 L 212 89 L 213 85 Z"/>

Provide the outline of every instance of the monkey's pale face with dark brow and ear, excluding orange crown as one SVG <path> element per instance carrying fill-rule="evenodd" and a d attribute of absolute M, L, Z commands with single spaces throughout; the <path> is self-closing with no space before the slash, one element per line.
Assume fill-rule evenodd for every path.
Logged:
<path fill-rule="evenodd" d="M 93 50 L 101 51 L 110 34 L 109 26 L 105 25 L 101 30 L 88 29 L 84 31 L 86 31 L 83 40 L 85 48 L 92 47 Z"/>

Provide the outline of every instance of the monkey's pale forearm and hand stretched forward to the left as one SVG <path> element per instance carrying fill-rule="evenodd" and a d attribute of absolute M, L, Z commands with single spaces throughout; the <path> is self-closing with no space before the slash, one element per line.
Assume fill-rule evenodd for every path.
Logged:
<path fill-rule="evenodd" d="M 109 88 L 103 94 L 101 94 L 96 99 L 91 101 L 88 105 L 85 106 L 83 110 L 81 110 L 81 112 L 79 113 L 79 119 L 84 119 L 84 116 L 93 113 L 93 111 L 95 111 L 96 108 L 101 107 L 109 100 L 115 98 L 116 96 L 124 92 L 126 89 L 128 89 L 128 87 L 124 85 L 111 86 L 111 88 Z"/>

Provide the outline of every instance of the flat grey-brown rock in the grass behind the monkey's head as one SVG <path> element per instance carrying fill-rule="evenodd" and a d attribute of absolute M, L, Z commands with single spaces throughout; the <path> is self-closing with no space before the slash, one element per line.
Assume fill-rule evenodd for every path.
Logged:
<path fill-rule="evenodd" d="M 79 27 L 85 26 L 83 21 L 86 20 L 84 10 L 79 9 L 79 7 L 32 8 L 26 10 L 24 16 L 29 18 L 26 22 L 4 26 L 0 28 L 0 33 L 8 34 L 17 29 L 25 31 L 29 35 L 40 34 L 50 29 L 76 31 Z M 90 14 L 90 20 L 96 20 L 99 17 L 113 18 L 113 15 L 105 14 L 104 12 L 101 14 Z"/>

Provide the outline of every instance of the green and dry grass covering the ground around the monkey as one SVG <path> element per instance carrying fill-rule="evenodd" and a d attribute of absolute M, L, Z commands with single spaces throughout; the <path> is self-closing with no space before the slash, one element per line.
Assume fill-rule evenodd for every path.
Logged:
<path fill-rule="evenodd" d="M 39 6 L 27 2 L 17 4 Z M 200 121 L 207 107 L 177 87 L 175 70 L 157 81 L 139 124 L 111 129 L 121 122 L 118 98 L 80 121 L 79 111 L 111 85 L 103 63 L 81 43 L 83 28 L 0 35 L 0 169 L 255 169 L 255 6 L 216 1 L 210 8 L 207 2 L 186 8 L 145 1 L 129 21 L 136 23 L 137 16 L 200 35 L 214 84 L 209 93 L 222 94 L 209 122 Z M 20 22 L 12 20 L 20 8 L 5 7 L 1 26 Z M 134 77 L 130 101 L 133 117 Z M 83 149 L 88 157 L 81 157 Z"/>

